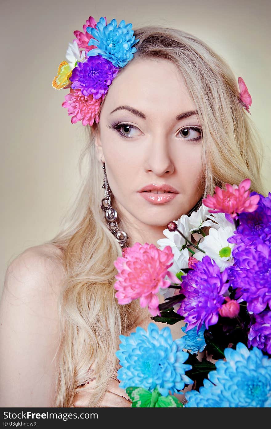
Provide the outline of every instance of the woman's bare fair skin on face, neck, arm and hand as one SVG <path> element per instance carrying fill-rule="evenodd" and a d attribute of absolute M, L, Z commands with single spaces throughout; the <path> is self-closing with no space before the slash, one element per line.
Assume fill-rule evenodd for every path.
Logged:
<path fill-rule="evenodd" d="M 127 105 L 145 119 L 131 109 L 118 109 Z M 116 208 L 126 219 L 132 244 L 157 245 L 169 221 L 187 213 L 202 196 L 201 124 L 196 114 L 178 119 L 193 111 L 180 74 L 166 60 L 131 62 L 109 88 L 100 114 L 96 155 L 105 162 Z M 129 125 L 117 131 L 112 129 L 117 123 Z M 154 205 L 138 193 L 153 183 L 169 184 L 178 195 Z M 54 356 L 60 337 L 57 301 L 64 275 L 61 252 L 54 245 L 29 248 L 6 272 L 0 305 L 1 407 L 54 406 Z M 171 329 L 173 338 L 183 335 L 180 324 Z M 93 383 L 87 392 L 75 395 L 73 406 L 87 404 Z M 102 407 L 130 406 L 124 390 L 112 380 Z"/>

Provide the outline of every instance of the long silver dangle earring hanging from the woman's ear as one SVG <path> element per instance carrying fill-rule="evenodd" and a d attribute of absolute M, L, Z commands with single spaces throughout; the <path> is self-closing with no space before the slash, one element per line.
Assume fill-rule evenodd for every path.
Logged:
<path fill-rule="evenodd" d="M 117 226 L 117 211 L 111 206 L 111 189 L 109 188 L 106 171 L 105 171 L 105 163 L 103 163 L 103 185 L 102 187 L 105 190 L 105 198 L 102 199 L 101 208 L 105 211 L 105 220 L 107 222 L 108 229 L 120 243 L 121 247 L 125 246 L 125 243 L 128 239 L 127 234 L 124 231 L 120 231 Z"/>

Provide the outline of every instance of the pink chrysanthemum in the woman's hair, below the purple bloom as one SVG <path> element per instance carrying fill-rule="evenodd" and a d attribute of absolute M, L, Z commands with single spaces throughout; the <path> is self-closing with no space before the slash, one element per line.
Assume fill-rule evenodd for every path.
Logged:
<path fill-rule="evenodd" d="M 68 115 L 72 116 L 72 124 L 82 121 L 83 125 L 93 125 L 94 120 L 99 122 L 99 110 L 102 98 L 98 100 L 93 95 L 84 96 L 79 89 L 70 89 L 69 94 L 65 95 L 62 107 L 68 109 Z"/>

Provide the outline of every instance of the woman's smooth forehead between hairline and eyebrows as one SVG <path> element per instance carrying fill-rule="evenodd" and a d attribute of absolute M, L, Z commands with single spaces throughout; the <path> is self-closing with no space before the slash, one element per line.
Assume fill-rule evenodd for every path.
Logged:
<path fill-rule="evenodd" d="M 166 112 L 177 116 L 194 110 L 177 67 L 168 60 L 131 61 L 112 82 L 102 110 L 110 114 L 119 106 L 132 106 L 146 117 Z"/>

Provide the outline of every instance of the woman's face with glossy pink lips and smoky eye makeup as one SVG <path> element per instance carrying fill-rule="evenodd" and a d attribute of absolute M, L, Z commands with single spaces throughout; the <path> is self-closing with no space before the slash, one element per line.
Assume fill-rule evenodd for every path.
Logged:
<path fill-rule="evenodd" d="M 95 144 L 115 208 L 129 222 L 166 228 L 202 196 L 202 131 L 194 111 L 178 69 L 164 59 L 134 60 L 111 84 Z M 163 185 L 175 193 L 139 192 Z"/>

